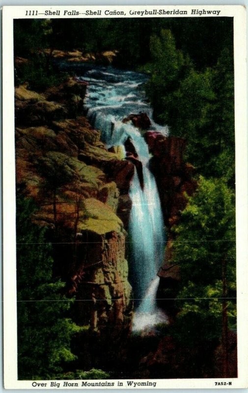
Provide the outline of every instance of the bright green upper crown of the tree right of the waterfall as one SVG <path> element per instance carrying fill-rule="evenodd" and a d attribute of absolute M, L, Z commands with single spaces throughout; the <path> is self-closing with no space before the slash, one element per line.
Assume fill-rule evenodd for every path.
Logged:
<path fill-rule="evenodd" d="M 226 255 L 231 264 L 235 260 L 235 197 L 224 180 L 200 176 L 197 193 L 189 197 L 174 232 L 174 258 L 180 262 L 183 280 L 189 270 L 194 280 L 220 279 L 221 257 Z"/>

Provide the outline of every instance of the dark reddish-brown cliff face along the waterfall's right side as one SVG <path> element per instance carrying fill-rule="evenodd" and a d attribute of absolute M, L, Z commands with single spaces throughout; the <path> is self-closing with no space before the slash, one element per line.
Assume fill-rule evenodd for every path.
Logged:
<path fill-rule="evenodd" d="M 160 284 L 157 292 L 158 304 L 165 307 L 168 315 L 173 315 L 175 305 L 173 299 L 180 285 L 180 269 L 175 263 L 171 263 L 173 252 L 174 235 L 171 227 L 180 221 L 181 211 L 187 205 L 187 197 L 192 196 L 196 190 L 196 181 L 193 179 L 194 168 L 185 163 L 183 153 L 186 141 L 178 137 L 165 137 L 161 133 L 148 131 L 145 134 L 149 150 L 153 154 L 150 160 L 150 168 L 153 171 L 161 199 L 167 239 L 165 249 L 165 261 L 158 273 Z M 161 300 L 160 300 L 161 299 Z"/>

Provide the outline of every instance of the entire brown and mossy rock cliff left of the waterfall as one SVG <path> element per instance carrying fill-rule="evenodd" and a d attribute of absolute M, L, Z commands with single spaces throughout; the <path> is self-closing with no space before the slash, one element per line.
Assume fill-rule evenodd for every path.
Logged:
<path fill-rule="evenodd" d="M 125 227 L 134 165 L 117 148 L 108 151 L 81 116 L 85 90 L 72 78 L 43 94 L 16 88 L 17 188 L 37 202 L 33 221 L 50 228 L 55 275 L 86 300 L 77 302 L 78 323 L 128 329 Z"/>

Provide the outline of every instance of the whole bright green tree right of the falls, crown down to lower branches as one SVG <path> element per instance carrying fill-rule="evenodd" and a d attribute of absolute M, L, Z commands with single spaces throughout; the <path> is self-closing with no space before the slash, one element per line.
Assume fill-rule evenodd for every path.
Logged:
<path fill-rule="evenodd" d="M 229 329 L 236 328 L 233 191 L 223 179 L 200 177 L 197 193 L 189 197 L 181 223 L 173 230 L 177 234 L 173 262 L 180 265 L 182 276 L 175 336 L 192 345 L 220 338 L 223 297 L 227 298 Z M 227 281 L 226 294 L 223 280 Z"/>

